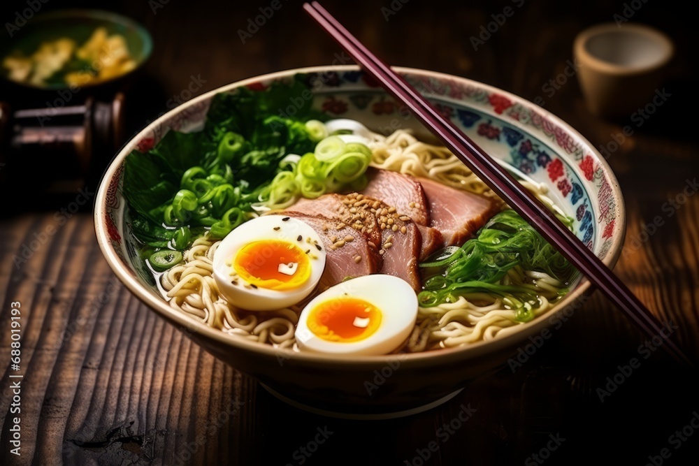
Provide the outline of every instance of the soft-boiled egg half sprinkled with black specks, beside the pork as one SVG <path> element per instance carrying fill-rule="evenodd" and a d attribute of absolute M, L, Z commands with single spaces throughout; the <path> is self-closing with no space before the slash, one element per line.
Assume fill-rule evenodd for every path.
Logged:
<path fill-rule="evenodd" d="M 326 251 L 305 222 L 265 215 L 226 235 L 214 253 L 219 291 L 241 309 L 271 311 L 298 303 L 323 275 Z"/>

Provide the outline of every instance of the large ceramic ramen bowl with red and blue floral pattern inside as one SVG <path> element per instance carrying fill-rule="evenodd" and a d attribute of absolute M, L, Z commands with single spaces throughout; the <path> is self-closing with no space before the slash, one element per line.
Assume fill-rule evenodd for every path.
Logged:
<path fill-rule="evenodd" d="M 624 238 L 624 201 L 614 174 L 589 141 L 542 108 L 480 82 L 432 71 L 396 68 L 470 138 L 513 173 L 549 187 L 549 197 L 574 220 L 575 235 L 612 267 Z M 271 393 L 312 412 L 346 418 L 387 418 L 438 405 L 468 381 L 505 365 L 528 337 L 552 326 L 589 291 L 578 280 L 552 310 L 518 326 L 504 337 L 453 349 L 416 354 L 356 356 L 308 354 L 250 342 L 195 321 L 173 310 L 138 259 L 138 245 L 125 221 L 122 196 L 124 159 L 147 150 L 170 129 L 198 131 L 212 97 L 238 87 L 261 89 L 296 73 L 316 78 L 308 97 L 331 118 L 350 118 L 380 133 L 412 128 L 429 133 L 356 66 L 299 68 L 250 78 L 192 99 L 140 131 L 115 156 L 96 196 L 94 223 L 104 256 L 117 277 L 153 312 L 184 332 L 211 354 L 255 377 Z M 289 103 L 287 112 L 293 110 Z M 367 382 L 377 388 L 368 390 Z"/>

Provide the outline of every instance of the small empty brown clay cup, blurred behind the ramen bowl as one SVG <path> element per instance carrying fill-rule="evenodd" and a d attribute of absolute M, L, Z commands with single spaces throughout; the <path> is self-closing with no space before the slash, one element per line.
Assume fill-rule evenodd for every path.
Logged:
<path fill-rule="evenodd" d="M 661 85 L 675 47 L 643 24 L 599 24 L 575 38 L 573 54 L 588 108 L 596 115 L 630 115 Z"/>

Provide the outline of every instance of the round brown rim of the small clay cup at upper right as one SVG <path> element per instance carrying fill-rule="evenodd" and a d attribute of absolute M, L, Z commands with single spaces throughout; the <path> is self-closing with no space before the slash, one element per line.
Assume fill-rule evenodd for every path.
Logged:
<path fill-rule="evenodd" d="M 618 64 L 613 64 L 610 61 L 605 61 L 595 57 L 587 49 L 587 44 L 591 38 L 600 36 L 601 34 L 607 33 L 633 33 L 640 36 L 645 36 L 655 41 L 656 43 L 663 46 L 663 57 L 655 61 L 654 63 L 642 65 L 642 66 L 623 66 Z M 654 27 L 647 26 L 646 24 L 639 23 L 629 23 L 624 24 L 623 29 L 617 25 L 615 22 L 607 22 L 603 24 L 598 24 L 596 26 L 589 27 L 580 32 L 573 43 L 573 52 L 581 61 L 581 66 L 591 66 L 599 71 L 605 73 L 610 73 L 613 75 L 637 75 L 641 73 L 647 73 L 649 71 L 654 71 L 658 68 L 662 68 L 665 64 L 672 59 L 675 54 L 675 44 L 672 43 L 670 37 L 656 29 Z"/>

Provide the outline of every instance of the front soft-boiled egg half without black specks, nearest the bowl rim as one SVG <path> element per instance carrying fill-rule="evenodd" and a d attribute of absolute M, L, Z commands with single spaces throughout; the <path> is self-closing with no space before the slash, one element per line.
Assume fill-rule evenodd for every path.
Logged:
<path fill-rule="evenodd" d="M 415 327 L 417 296 L 393 275 L 366 275 L 331 286 L 301 311 L 301 351 L 380 355 L 394 351 Z"/>

